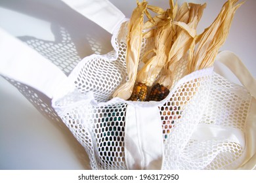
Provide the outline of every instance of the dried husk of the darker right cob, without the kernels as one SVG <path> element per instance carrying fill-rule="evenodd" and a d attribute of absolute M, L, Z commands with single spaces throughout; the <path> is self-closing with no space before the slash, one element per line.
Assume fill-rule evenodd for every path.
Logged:
<path fill-rule="evenodd" d="M 188 52 L 190 45 L 196 37 L 196 27 L 202 18 L 205 7 L 206 4 L 184 3 L 178 11 L 177 21 L 173 22 L 174 25 L 177 25 L 175 28 L 175 37 L 173 38 L 174 42 L 169 51 L 167 65 L 163 69 L 164 74 L 158 81 L 169 89 L 173 84 L 173 78 L 175 77 L 173 75 L 177 63 L 185 57 L 186 52 Z"/>

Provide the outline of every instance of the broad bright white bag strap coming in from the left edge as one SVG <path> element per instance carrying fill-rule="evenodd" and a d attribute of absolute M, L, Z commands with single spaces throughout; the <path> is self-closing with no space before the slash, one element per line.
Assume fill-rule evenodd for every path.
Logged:
<path fill-rule="evenodd" d="M 66 80 L 58 67 L 0 28 L 0 75 L 32 86 L 49 98 Z"/>

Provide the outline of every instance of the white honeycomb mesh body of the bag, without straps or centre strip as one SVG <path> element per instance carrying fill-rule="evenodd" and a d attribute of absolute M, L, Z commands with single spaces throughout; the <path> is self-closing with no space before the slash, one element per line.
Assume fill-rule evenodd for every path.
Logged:
<path fill-rule="evenodd" d="M 114 33 L 114 50 L 80 61 L 69 76 L 74 88 L 53 100 L 62 121 L 85 148 L 92 169 L 128 168 L 125 163 L 127 105 L 158 107 L 163 130 L 163 169 L 238 167 L 244 158 L 243 144 L 230 139 L 193 139 L 198 125 L 232 127 L 245 133 L 249 93 L 214 73 L 212 68 L 184 76 L 184 64 L 181 64 L 171 92 L 160 102 L 112 99 L 117 87 L 127 81 L 127 24 L 121 24 Z M 153 46 L 152 39 L 143 39 L 140 58 Z"/>

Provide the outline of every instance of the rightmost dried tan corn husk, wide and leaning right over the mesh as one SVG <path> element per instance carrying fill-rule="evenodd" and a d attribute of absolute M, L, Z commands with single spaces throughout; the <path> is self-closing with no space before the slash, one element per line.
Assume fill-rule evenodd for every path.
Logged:
<path fill-rule="evenodd" d="M 196 38 L 190 49 L 188 73 L 213 65 L 219 48 L 226 41 L 234 13 L 242 5 L 235 5 L 237 2 L 238 0 L 227 1 L 213 24 Z"/>

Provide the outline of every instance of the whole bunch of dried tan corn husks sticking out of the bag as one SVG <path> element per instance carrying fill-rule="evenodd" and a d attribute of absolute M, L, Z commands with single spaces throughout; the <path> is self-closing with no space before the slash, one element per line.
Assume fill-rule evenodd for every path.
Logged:
<path fill-rule="evenodd" d="M 213 22 L 201 35 L 196 35 L 196 27 L 202 17 L 205 4 L 183 3 L 178 8 L 177 3 L 169 1 L 170 9 L 147 5 L 137 1 L 137 8 L 131 16 L 129 35 L 127 36 L 127 73 L 129 81 L 121 85 L 114 97 L 128 99 L 131 96 L 135 80 L 152 86 L 156 78 L 167 88 L 171 88 L 173 80 L 178 78 L 175 69 L 186 59 L 187 69 L 183 76 L 198 69 L 210 67 L 219 48 L 228 35 L 234 12 L 242 5 L 235 5 L 238 0 L 228 0 Z M 148 10 L 157 16 L 151 17 Z M 146 14 L 148 22 L 143 24 Z M 142 30 L 146 32 L 142 33 Z M 148 50 L 142 57 L 144 66 L 137 74 L 140 57 L 140 47 L 143 38 L 154 37 L 154 48 Z M 189 56 L 188 55 L 189 50 Z M 151 58 L 148 58 L 152 56 Z"/>

